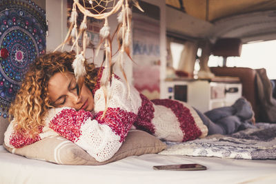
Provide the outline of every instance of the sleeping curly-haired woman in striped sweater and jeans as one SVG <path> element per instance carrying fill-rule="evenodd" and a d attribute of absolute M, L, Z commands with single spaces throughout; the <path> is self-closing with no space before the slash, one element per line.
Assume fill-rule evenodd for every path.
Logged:
<path fill-rule="evenodd" d="M 244 98 L 205 114 L 181 101 L 150 101 L 132 86 L 128 90 L 126 82 L 114 74 L 106 101 L 100 85 L 104 68 L 85 61 L 87 74 L 79 86 L 74 60 L 74 52 L 52 52 L 32 64 L 10 106 L 6 146 L 19 148 L 59 135 L 97 161 L 106 161 L 119 150 L 130 128 L 181 142 L 207 134 L 232 134 L 254 116 Z"/>

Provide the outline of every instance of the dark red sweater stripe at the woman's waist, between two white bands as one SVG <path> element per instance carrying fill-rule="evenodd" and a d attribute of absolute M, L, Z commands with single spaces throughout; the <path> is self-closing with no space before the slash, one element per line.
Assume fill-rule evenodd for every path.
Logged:
<path fill-rule="evenodd" d="M 155 133 L 155 126 L 152 125 L 152 119 L 154 117 L 155 109 L 153 108 L 152 102 L 148 100 L 146 96 L 141 96 L 141 107 L 138 110 L 137 121 L 134 125 L 139 130 L 144 130 L 150 134 Z"/>

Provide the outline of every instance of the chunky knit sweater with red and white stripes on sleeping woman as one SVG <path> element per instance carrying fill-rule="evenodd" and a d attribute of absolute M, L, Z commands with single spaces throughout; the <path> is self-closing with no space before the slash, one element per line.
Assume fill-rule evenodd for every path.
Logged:
<path fill-rule="evenodd" d="M 99 86 L 99 81 L 96 86 Z M 206 136 L 208 132 L 197 113 L 185 103 L 171 100 L 152 103 L 133 86 L 130 86 L 129 93 L 126 81 L 117 76 L 112 76 L 112 83 L 106 90 L 107 101 L 103 87 L 95 91 L 93 113 L 77 112 L 72 108 L 49 110 L 39 139 L 58 134 L 79 145 L 97 161 L 106 161 L 117 152 L 132 125 L 167 141 L 193 140 Z M 105 116 L 103 112 L 106 112 Z M 5 133 L 6 146 L 23 147 L 38 141 L 14 139 L 19 134 L 14 133 L 13 123 Z M 26 134 L 23 136 L 28 137 Z"/>

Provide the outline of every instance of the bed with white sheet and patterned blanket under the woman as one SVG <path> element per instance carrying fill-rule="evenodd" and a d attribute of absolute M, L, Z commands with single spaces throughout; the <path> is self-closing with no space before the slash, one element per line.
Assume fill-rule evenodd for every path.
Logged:
<path fill-rule="evenodd" d="M 255 128 L 230 136 L 208 136 L 187 143 L 167 142 L 166 149 L 159 153 L 139 153 L 105 165 L 61 165 L 27 159 L 10 154 L 1 145 L 0 183 L 275 183 L 275 134 L 275 124 L 257 123 Z M 208 147 L 219 149 L 210 152 Z M 199 163 L 207 170 L 152 169 L 153 165 L 179 163 Z"/>

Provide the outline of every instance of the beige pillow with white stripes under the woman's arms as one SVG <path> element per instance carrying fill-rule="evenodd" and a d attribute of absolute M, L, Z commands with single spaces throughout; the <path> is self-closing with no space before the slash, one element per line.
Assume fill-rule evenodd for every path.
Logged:
<path fill-rule="evenodd" d="M 166 148 L 166 144 L 147 132 L 132 130 L 126 136 L 126 141 L 111 159 L 104 162 L 96 161 L 90 154 L 81 149 L 75 143 L 62 136 L 52 136 L 32 145 L 19 149 L 11 149 L 3 146 L 14 154 L 26 156 L 28 159 L 37 159 L 64 165 L 103 165 L 106 163 L 124 159 L 127 156 L 154 154 Z"/>

